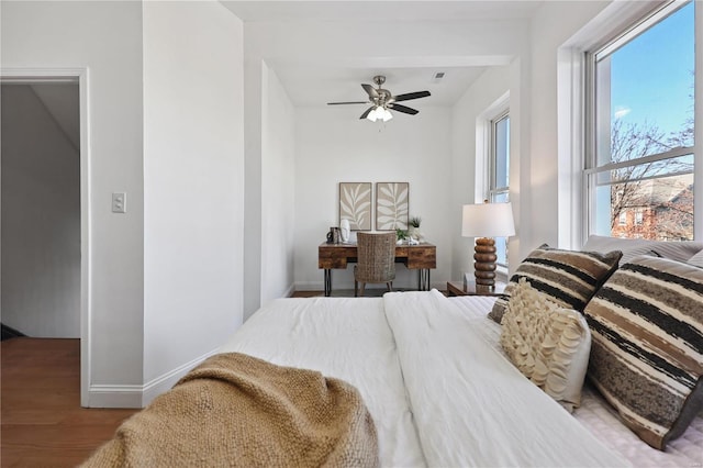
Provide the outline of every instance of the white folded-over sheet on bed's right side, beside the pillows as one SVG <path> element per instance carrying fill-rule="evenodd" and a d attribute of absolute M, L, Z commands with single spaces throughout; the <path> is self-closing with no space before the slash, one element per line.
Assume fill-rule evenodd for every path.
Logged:
<path fill-rule="evenodd" d="M 383 298 L 429 466 L 629 465 L 525 379 L 440 292 Z"/>

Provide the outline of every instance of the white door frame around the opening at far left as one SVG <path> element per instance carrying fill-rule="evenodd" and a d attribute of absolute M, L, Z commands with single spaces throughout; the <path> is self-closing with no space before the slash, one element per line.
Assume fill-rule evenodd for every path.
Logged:
<path fill-rule="evenodd" d="M 0 83 L 78 83 L 80 113 L 80 405 L 88 406 L 91 381 L 91 219 L 88 68 L 0 68 Z"/>

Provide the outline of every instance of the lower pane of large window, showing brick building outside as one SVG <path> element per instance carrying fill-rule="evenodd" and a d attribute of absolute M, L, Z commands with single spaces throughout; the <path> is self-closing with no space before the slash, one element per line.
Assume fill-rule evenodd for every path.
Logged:
<path fill-rule="evenodd" d="M 693 239 L 692 174 L 599 186 L 596 199 L 595 234 Z"/>

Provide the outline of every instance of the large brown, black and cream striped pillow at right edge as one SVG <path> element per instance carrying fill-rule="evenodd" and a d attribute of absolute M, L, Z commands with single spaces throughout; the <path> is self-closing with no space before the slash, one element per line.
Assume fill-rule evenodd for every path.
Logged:
<path fill-rule="evenodd" d="M 703 269 L 634 258 L 584 314 L 589 378 L 639 438 L 665 449 L 703 410 Z"/>

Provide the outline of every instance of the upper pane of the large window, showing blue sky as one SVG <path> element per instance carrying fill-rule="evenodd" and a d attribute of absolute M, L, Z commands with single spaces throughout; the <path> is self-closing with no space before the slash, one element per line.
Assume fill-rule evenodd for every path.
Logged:
<path fill-rule="evenodd" d="M 694 3 L 596 56 L 598 166 L 693 146 Z"/>

